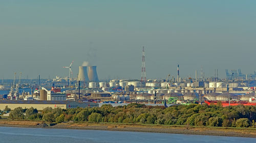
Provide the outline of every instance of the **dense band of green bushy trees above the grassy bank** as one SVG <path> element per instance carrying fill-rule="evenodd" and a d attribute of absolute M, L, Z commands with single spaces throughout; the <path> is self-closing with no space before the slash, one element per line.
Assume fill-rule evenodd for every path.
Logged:
<path fill-rule="evenodd" d="M 87 108 L 37 109 L 17 107 L 10 112 L 10 119 L 42 120 L 45 122 L 111 122 L 214 127 L 254 127 L 256 106 L 175 105 L 147 106 L 132 103 L 124 106 Z"/>

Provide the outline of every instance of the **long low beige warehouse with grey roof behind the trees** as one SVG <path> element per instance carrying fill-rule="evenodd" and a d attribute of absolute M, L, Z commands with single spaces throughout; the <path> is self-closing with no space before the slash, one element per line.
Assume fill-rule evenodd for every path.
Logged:
<path fill-rule="evenodd" d="M 10 109 L 16 107 L 22 108 L 36 108 L 37 110 L 43 110 L 46 107 L 52 108 L 76 108 L 76 107 L 98 107 L 97 103 L 94 102 L 76 102 L 76 101 L 40 101 L 40 100 L 0 100 L 0 109 L 4 110 L 5 106 L 8 106 Z"/>

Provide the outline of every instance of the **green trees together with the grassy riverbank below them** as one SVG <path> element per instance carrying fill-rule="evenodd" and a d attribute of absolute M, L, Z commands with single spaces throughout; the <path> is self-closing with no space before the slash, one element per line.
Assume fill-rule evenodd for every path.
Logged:
<path fill-rule="evenodd" d="M 5 111 L 8 110 L 6 107 Z M 28 109 L 17 107 L 10 112 L 10 119 L 20 120 L 19 122 L 29 120 L 34 122 L 33 124 L 36 124 L 35 122 L 57 123 L 52 128 L 256 137 L 256 128 L 254 128 L 256 106 L 244 105 L 221 107 L 190 104 L 166 108 L 132 103 L 117 107 L 111 105 L 71 109 L 47 107 L 42 111 L 37 111 L 32 107 Z M 14 125 L 23 124 L 13 122 L 15 122 Z M 4 123 L 0 122 L 2 125 Z M 27 124 L 29 123 L 25 125 Z M 234 133 L 235 130 L 238 132 Z"/>

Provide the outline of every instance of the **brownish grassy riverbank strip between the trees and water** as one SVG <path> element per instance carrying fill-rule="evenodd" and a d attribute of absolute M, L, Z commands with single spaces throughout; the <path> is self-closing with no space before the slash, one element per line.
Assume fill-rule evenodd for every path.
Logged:
<path fill-rule="evenodd" d="M 92 123 L 92 122 L 84 122 L 84 123 L 68 122 L 68 123 L 59 123 L 53 126 L 47 126 L 44 122 L 40 122 L 40 121 L 13 121 L 13 120 L 1 120 L 0 126 L 256 137 L 256 128 L 233 128 L 233 127 L 202 127 L 202 126 Z"/>

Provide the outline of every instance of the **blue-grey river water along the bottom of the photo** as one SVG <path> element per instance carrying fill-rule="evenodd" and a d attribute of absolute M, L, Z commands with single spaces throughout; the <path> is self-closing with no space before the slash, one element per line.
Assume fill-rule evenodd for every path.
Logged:
<path fill-rule="evenodd" d="M 100 130 L 0 127 L 0 142 L 254 142 L 256 138 Z"/>

